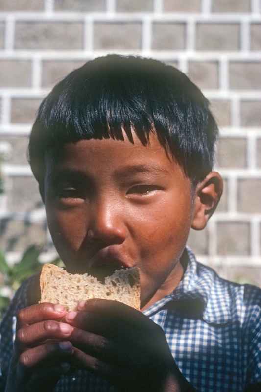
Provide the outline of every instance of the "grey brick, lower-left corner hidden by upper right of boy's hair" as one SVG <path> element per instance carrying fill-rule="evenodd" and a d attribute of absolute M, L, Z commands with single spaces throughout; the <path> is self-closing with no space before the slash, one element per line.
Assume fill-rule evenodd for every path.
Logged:
<path fill-rule="evenodd" d="M 218 89 L 219 72 L 217 61 L 190 61 L 188 75 L 201 89 Z"/>

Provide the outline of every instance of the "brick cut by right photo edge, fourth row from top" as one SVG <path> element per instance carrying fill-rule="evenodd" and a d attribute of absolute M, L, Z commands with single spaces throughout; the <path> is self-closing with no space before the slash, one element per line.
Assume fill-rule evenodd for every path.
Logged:
<path fill-rule="evenodd" d="M 241 126 L 261 126 L 261 101 L 241 101 Z"/>

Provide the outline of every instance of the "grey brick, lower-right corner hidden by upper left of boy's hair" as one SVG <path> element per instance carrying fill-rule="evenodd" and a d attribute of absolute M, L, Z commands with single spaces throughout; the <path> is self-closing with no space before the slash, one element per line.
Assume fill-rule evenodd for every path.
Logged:
<path fill-rule="evenodd" d="M 42 86 L 53 87 L 68 73 L 81 67 L 86 61 L 46 60 L 42 63 Z"/>

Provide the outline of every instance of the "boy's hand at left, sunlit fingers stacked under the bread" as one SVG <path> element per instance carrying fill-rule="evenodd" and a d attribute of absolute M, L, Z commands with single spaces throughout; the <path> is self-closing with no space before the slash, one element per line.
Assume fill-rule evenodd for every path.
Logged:
<path fill-rule="evenodd" d="M 6 392 L 52 391 L 61 374 L 70 369 L 73 347 L 68 337 L 73 328 L 59 322 L 65 314 L 62 306 L 50 303 L 18 313 Z"/>

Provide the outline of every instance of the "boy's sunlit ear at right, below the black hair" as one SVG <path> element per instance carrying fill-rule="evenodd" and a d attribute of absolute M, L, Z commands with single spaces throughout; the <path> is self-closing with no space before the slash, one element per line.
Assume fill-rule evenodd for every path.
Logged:
<path fill-rule="evenodd" d="M 192 229 L 202 230 L 214 213 L 223 192 L 223 180 L 219 173 L 210 172 L 195 190 Z"/>

